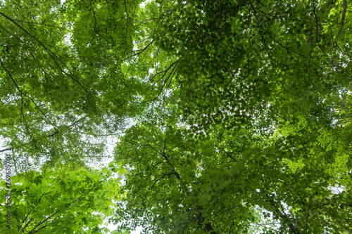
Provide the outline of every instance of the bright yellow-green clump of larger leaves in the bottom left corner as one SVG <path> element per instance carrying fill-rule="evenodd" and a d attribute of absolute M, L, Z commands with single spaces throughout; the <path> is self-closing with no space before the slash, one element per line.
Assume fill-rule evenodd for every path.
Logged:
<path fill-rule="evenodd" d="M 101 171 L 88 167 L 56 168 L 13 176 L 11 229 L 3 216 L 0 230 L 28 234 L 101 233 L 106 228 L 99 225 L 113 212 L 113 199 L 120 200 L 120 181 L 111 176 L 106 167 Z M 1 183 L 5 188 L 5 181 Z M 1 203 L 6 203 L 6 195 L 8 191 L 2 190 Z M 8 207 L 0 208 L 1 214 L 7 213 Z"/>

